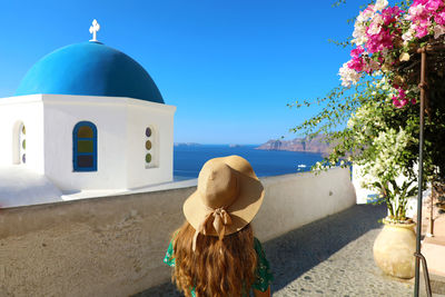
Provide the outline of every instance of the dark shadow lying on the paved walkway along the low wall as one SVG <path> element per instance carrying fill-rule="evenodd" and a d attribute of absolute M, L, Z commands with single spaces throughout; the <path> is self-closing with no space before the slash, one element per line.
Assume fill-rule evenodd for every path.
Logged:
<path fill-rule="evenodd" d="M 378 220 L 385 216 L 384 205 L 356 205 L 265 242 L 275 277 L 271 291 L 283 289 L 367 231 L 380 228 Z M 182 295 L 171 283 L 166 283 L 132 297 L 148 296 Z"/>

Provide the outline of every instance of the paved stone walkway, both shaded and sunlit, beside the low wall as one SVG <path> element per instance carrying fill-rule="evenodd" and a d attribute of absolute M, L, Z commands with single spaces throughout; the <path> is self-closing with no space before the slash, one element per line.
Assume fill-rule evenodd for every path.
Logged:
<path fill-rule="evenodd" d="M 354 206 L 264 244 L 275 281 L 273 296 L 413 296 L 413 281 L 375 266 L 373 244 L 383 206 Z M 180 296 L 171 284 L 137 297 Z"/>

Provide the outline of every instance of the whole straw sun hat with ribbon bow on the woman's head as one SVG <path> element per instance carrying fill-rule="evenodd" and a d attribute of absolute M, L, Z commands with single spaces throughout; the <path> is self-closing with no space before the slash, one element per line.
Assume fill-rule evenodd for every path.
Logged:
<path fill-rule="evenodd" d="M 222 239 L 241 230 L 258 212 L 264 194 L 246 159 L 229 156 L 208 160 L 199 172 L 197 190 L 182 207 L 187 221 L 196 230 L 192 249 L 199 232 Z"/>

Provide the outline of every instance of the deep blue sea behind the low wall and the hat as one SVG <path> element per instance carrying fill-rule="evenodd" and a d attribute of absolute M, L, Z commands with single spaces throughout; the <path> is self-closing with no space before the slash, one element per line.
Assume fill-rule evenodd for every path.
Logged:
<path fill-rule="evenodd" d="M 238 155 L 247 159 L 258 177 L 309 171 L 323 159 L 322 154 L 283 150 L 258 150 L 258 146 L 179 145 L 174 148 L 175 179 L 197 178 L 202 165 L 211 158 Z"/>

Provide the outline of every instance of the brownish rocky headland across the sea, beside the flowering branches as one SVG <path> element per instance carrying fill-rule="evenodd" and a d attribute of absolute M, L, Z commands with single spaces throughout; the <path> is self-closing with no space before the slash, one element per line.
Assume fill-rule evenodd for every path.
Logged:
<path fill-rule="evenodd" d="M 332 146 L 324 140 L 323 136 L 316 136 L 313 139 L 308 137 L 295 138 L 293 140 L 271 139 L 256 149 L 319 152 L 326 156 L 330 154 Z"/>

